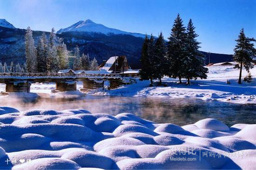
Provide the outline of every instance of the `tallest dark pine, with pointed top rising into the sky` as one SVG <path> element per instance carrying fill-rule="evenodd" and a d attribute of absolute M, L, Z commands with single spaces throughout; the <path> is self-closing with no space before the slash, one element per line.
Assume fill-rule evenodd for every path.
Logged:
<path fill-rule="evenodd" d="M 182 83 L 181 79 L 184 77 L 184 58 L 185 58 L 185 39 L 186 29 L 182 24 L 180 14 L 177 15 L 174 25 L 172 27 L 171 35 L 168 38 L 167 57 L 169 63 L 168 76 L 173 78 L 179 78 L 179 83 Z"/>

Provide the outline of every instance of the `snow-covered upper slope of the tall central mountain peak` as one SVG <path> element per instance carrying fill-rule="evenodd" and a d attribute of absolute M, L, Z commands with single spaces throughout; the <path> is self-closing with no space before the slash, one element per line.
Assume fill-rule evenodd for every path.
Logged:
<path fill-rule="evenodd" d="M 126 32 L 117 30 L 114 28 L 108 28 L 107 26 L 104 26 L 102 24 L 96 24 L 92 20 L 87 19 L 85 21 L 79 21 L 67 28 L 60 29 L 57 31 L 58 34 L 61 34 L 62 32 L 68 32 L 68 31 L 78 31 L 78 32 L 97 32 L 102 34 L 127 34 L 132 35 L 135 37 L 141 37 L 144 38 L 145 35 L 140 33 L 132 33 L 132 32 Z"/>

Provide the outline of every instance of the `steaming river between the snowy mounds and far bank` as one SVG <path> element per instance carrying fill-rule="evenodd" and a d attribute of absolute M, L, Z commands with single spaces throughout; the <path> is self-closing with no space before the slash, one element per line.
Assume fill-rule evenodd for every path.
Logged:
<path fill-rule="evenodd" d="M 179 126 L 214 118 L 232 126 L 237 123 L 255 124 L 256 105 L 239 105 L 218 101 L 195 99 L 169 99 L 153 97 L 85 96 L 80 99 L 39 98 L 34 101 L 0 98 L 0 106 L 25 111 L 29 109 L 77 109 L 92 113 L 134 113 L 142 119 Z"/>

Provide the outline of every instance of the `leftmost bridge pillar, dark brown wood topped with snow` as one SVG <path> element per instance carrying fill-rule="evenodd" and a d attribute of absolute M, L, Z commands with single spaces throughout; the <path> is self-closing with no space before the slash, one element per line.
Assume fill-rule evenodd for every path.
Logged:
<path fill-rule="evenodd" d="M 6 92 L 30 92 L 30 82 L 27 81 L 16 81 L 6 82 Z"/>

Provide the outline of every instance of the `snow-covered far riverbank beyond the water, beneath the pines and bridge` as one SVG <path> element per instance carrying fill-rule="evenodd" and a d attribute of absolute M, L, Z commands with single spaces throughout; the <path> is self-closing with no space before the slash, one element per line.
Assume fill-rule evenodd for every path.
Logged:
<path fill-rule="evenodd" d="M 256 104 L 256 67 L 251 69 L 254 80 L 251 83 L 243 82 L 239 85 L 239 70 L 229 66 L 208 67 L 209 73 L 206 80 L 191 81 L 191 85 L 177 84 L 177 80 L 168 77 L 163 78 L 163 83 L 167 87 L 149 87 L 149 81 L 139 81 L 131 85 L 125 85 L 114 90 L 92 90 L 90 95 L 110 95 L 110 96 L 151 96 L 169 98 L 198 98 L 202 100 L 217 100 L 240 104 Z M 243 77 L 247 72 L 243 70 Z M 227 84 L 227 80 L 231 84 Z M 183 80 L 184 82 L 186 80 Z M 0 91 L 4 91 L 5 85 L 0 84 Z M 55 88 L 55 83 L 35 83 L 31 85 L 32 93 L 47 93 L 50 97 L 66 96 L 66 93 L 53 94 L 51 90 Z M 77 89 L 82 88 L 82 82 L 77 83 Z M 73 96 L 81 93 L 75 92 Z M 3 97 L 3 96 L 1 96 Z"/>

